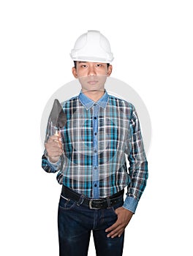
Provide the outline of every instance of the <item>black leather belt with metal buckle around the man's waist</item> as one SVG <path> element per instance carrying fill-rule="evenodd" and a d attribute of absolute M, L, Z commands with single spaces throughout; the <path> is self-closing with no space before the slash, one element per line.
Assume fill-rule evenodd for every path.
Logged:
<path fill-rule="evenodd" d="M 121 202 L 123 200 L 124 189 L 111 197 L 91 199 L 62 185 L 61 195 L 70 200 L 76 201 L 79 206 L 83 204 L 84 206 L 88 206 L 90 209 L 101 209 L 115 206 L 118 202 Z"/>

